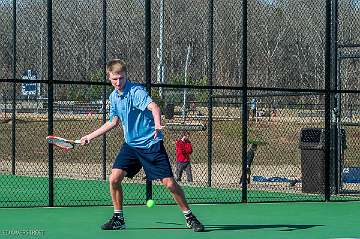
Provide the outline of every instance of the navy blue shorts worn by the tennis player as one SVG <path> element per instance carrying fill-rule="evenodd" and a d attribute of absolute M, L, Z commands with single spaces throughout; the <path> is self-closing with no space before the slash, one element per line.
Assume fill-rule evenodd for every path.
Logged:
<path fill-rule="evenodd" d="M 134 148 L 124 143 L 113 164 L 113 168 L 126 171 L 128 178 L 134 177 L 142 167 L 148 180 L 173 177 L 162 140 L 148 149 Z"/>

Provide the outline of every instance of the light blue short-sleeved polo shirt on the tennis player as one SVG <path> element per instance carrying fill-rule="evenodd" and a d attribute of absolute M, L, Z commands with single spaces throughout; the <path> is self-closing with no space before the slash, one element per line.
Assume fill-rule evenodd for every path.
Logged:
<path fill-rule="evenodd" d="M 114 90 L 109 97 L 110 121 L 117 116 L 121 120 L 125 142 L 137 148 L 150 148 L 164 138 L 160 132 L 154 139 L 154 118 L 147 106 L 152 102 L 145 88 L 126 80 L 120 95 Z"/>

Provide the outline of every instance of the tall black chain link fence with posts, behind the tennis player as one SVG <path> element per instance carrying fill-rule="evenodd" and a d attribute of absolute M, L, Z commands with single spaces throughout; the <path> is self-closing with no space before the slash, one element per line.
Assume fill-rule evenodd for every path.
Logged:
<path fill-rule="evenodd" d="M 178 181 L 190 203 L 359 200 L 360 3 L 246 2 L 0 1 L 0 207 L 111 205 L 121 127 L 68 153 L 45 137 L 108 120 L 113 58 L 161 107 L 174 173 L 189 131 L 192 178 Z M 174 203 L 144 176 L 125 180 L 125 204 L 149 185 Z"/>

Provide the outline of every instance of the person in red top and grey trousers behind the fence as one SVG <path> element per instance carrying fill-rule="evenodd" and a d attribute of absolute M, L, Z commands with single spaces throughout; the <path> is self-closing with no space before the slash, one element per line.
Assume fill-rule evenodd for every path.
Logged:
<path fill-rule="evenodd" d="M 176 140 L 176 171 L 175 179 L 181 182 L 182 173 L 186 172 L 188 182 L 192 182 L 192 172 L 190 163 L 190 154 L 192 153 L 192 145 L 189 140 L 190 134 L 184 131 L 182 138 Z"/>

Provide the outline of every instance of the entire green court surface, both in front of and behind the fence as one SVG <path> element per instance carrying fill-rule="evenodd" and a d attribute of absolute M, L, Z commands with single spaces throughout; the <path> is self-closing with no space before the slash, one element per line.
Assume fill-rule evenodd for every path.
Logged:
<path fill-rule="evenodd" d="M 0 203 L 5 206 L 47 205 L 48 179 L 44 177 L 2 175 Z M 6 186 L 5 186 L 6 185 Z M 54 182 L 56 206 L 110 205 L 108 182 L 57 178 Z M 231 204 L 197 204 L 193 211 L 205 224 L 203 233 L 187 229 L 177 206 L 157 205 L 147 208 L 145 185 L 124 185 L 127 229 L 102 231 L 100 225 L 112 215 L 111 206 L 40 207 L 0 209 L 0 238 L 357 238 L 359 202 L 342 203 L 252 203 L 240 202 L 239 189 L 184 186 L 189 201 L 201 203 L 225 201 Z M 158 204 L 171 203 L 171 195 L 154 185 Z M 15 194 L 16 192 L 16 194 Z M 61 193 L 59 193 L 61 192 Z M 201 197 L 191 195 L 201 193 Z M 253 201 L 298 199 L 301 194 L 271 191 L 249 191 Z M 10 200 L 12 198 L 12 200 Z M 17 200 L 14 200 L 17 198 Z M 322 200 L 322 195 L 307 195 L 309 200 Z M 143 200 L 142 200 L 143 199 Z M 349 197 L 348 199 L 354 199 Z M 6 205 L 6 202 L 9 204 Z M 10 205 L 10 202 L 12 203 Z M 26 216 L 24 216 L 26 215 Z"/>

